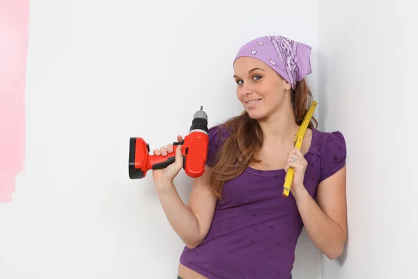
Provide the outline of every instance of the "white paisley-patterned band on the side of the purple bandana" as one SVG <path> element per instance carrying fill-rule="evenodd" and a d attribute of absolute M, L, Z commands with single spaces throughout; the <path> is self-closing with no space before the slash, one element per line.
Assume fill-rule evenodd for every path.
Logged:
<path fill-rule="evenodd" d="M 299 68 L 297 67 L 297 42 L 283 36 L 267 36 L 276 49 L 277 56 L 284 63 L 291 86 L 295 89 L 299 80 Z"/>

